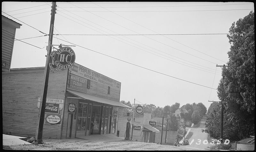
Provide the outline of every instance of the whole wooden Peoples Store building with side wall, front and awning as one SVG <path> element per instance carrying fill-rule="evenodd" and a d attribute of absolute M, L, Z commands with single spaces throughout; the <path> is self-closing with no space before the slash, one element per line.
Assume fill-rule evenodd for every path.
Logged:
<path fill-rule="evenodd" d="M 44 67 L 2 71 L 3 134 L 34 137 Z M 43 137 L 75 138 L 117 132 L 121 83 L 77 63 L 50 71 Z"/>

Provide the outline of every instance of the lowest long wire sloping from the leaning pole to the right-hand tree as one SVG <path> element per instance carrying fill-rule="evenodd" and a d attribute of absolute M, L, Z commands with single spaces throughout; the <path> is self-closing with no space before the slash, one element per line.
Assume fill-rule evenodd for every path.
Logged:
<path fill-rule="evenodd" d="M 57 37 L 54 37 L 54 38 L 57 38 Z M 61 40 L 61 39 L 60 39 L 60 40 Z M 65 41 L 65 40 L 62 40 L 62 41 Z M 65 41 L 65 42 L 67 42 L 67 41 Z M 74 44 L 74 43 L 71 43 L 71 42 L 68 42 L 68 43 Z M 136 65 L 136 64 L 133 64 L 133 63 L 124 61 L 124 60 L 117 59 L 117 58 L 115 58 L 115 57 L 112 57 L 112 56 L 109 56 L 109 55 L 106 55 L 106 54 L 103 54 L 103 53 L 100 53 L 100 52 L 97 52 L 97 51 L 94 51 L 94 50 L 85 48 L 85 47 L 80 46 L 80 45 L 77 45 L 77 44 L 74 44 L 74 45 L 79 46 L 79 47 L 84 48 L 84 49 L 87 49 L 87 50 L 90 50 L 90 51 L 93 51 L 93 52 L 96 52 L 96 53 L 99 53 L 99 54 L 102 54 L 102 55 L 105 55 L 105 56 L 108 56 L 108 57 L 110 57 L 110 58 L 113 58 L 113 59 L 116 59 L 116 60 L 119 60 L 119 61 L 122 61 L 122 62 L 125 62 L 125 63 L 128 63 L 128 64 L 131 64 L 131 65 L 140 67 L 140 68 L 144 68 L 144 67 L 141 67 L 141 66 L 139 66 L 139 65 Z M 149 71 L 153 71 L 153 72 L 156 72 L 156 73 L 165 75 L 165 76 L 170 76 L 170 75 L 167 75 L 167 74 L 164 74 L 164 73 L 161 73 L 161 72 L 157 72 L 157 71 L 154 71 L 154 70 L 151 70 L 151 69 L 148 69 L 148 68 L 144 68 L 144 69 L 147 69 L 147 70 L 149 70 Z M 187 81 L 187 80 L 183 80 L 183 79 L 180 79 L 180 78 L 177 78 L 177 77 L 174 77 L 174 76 L 170 76 L 170 77 L 175 78 L 175 79 L 179 79 L 179 80 L 182 80 L 182 81 L 186 81 L 186 82 L 188 82 L 188 83 L 196 84 L 196 83 L 193 83 L 193 82 L 190 82 L 190 81 Z M 196 85 L 200 85 L 200 86 L 203 86 L 203 87 L 206 87 L 206 88 L 214 89 L 214 88 L 211 88 L 211 87 L 208 87 L 208 86 L 204 86 L 204 85 L 201 85 L 201 84 L 196 84 Z M 214 90 L 217 90 L 217 89 L 214 89 Z"/>

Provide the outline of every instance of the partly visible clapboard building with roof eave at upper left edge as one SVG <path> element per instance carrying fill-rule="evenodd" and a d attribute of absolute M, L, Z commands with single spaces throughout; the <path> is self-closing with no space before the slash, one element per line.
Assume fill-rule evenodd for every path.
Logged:
<path fill-rule="evenodd" d="M 2 15 L 2 71 L 9 72 L 16 28 L 21 24 Z"/>

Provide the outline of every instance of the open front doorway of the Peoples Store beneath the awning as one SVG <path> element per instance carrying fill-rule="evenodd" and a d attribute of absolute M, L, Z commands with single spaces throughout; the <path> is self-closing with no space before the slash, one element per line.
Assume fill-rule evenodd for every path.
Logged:
<path fill-rule="evenodd" d="M 91 134 L 100 134 L 100 106 L 92 106 L 92 122 Z"/>

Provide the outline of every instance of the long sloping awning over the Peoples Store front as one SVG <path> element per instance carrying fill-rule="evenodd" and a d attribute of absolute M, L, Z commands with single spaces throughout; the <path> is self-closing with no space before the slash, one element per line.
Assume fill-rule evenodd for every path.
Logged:
<path fill-rule="evenodd" d="M 67 90 L 67 92 L 69 92 L 75 96 L 78 96 L 80 98 L 83 98 L 83 99 L 92 100 L 95 102 L 104 103 L 104 104 L 108 104 L 108 105 L 112 105 L 112 106 L 131 108 L 131 107 L 126 106 L 125 104 L 118 102 L 118 101 L 104 99 L 104 98 L 96 97 L 96 96 L 85 94 L 85 93 L 75 92 L 75 91 L 71 91 L 71 90 Z"/>

